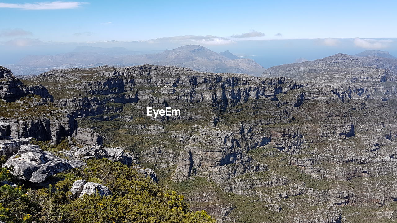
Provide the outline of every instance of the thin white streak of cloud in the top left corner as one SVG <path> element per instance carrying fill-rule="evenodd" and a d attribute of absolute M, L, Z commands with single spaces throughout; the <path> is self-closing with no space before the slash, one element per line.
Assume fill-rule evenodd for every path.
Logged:
<path fill-rule="evenodd" d="M 18 8 L 23 10 L 49 10 L 49 9 L 73 9 L 80 5 L 89 4 L 87 2 L 37 2 L 37 3 L 0 3 L 0 8 Z"/>

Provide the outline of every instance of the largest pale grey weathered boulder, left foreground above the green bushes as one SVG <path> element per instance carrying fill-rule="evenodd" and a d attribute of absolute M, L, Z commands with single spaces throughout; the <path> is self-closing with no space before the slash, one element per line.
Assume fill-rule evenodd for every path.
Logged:
<path fill-rule="evenodd" d="M 13 175 L 32 183 L 40 183 L 56 173 L 83 165 L 82 161 L 59 158 L 32 144 L 21 145 L 18 153 L 4 164 Z"/>

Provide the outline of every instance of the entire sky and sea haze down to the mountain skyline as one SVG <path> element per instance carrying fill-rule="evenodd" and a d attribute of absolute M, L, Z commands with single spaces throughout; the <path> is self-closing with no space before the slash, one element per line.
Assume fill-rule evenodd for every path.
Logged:
<path fill-rule="evenodd" d="M 388 25 L 397 2 L 363 2 L 2 1 L 0 64 L 76 46 L 137 51 L 200 44 L 265 68 L 368 49 L 397 55 L 397 31 Z"/>

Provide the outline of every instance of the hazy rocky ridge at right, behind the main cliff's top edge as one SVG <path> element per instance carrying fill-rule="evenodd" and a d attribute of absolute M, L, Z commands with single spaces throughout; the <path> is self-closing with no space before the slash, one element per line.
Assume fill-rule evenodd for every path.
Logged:
<path fill-rule="evenodd" d="M 397 77 L 397 59 L 387 51 L 366 50 L 353 56 L 326 58 L 266 69 L 262 77 L 288 77 L 295 81 L 391 81 Z"/>

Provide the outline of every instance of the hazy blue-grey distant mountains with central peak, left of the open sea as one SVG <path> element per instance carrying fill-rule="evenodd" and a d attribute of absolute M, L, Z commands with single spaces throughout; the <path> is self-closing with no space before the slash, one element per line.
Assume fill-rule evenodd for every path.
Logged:
<path fill-rule="evenodd" d="M 264 67 L 252 59 L 239 59 L 229 51 L 216 53 L 200 45 L 187 45 L 164 51 L 130 51 L 122 47 L 78 46 L 73 52 L 56 55 L 27 55 L 22 67 L 94 67 L 100 65 L 175 65 L 210 73 L 247 73 L 259 76 Z"/>

